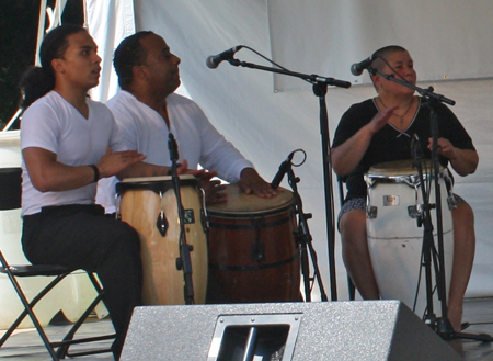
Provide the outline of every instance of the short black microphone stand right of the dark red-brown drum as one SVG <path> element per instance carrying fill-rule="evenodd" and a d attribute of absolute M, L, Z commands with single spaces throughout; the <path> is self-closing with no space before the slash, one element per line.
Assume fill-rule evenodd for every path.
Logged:
<path fill-rule="evenodd" d="M 298 214 L 298 229 L 295 232 L 295 239 L 300 246 L 300 259 L 301 259 L 301 274 L 303 275 L 305 285 L 305 301 L 311 302 L 311 287 L 310 282 L 317 279 L 320 287 L 321 301 L 328 301 L 325 290 L 323 289 L 323 282 L 320 277 L 319 266 L 317 261 L 317 252 L 311 244 L 312 237 L 308 228 L 307 219 L 311 218 L 311 213 L 305 213 L 302 208 L 301 196 L 298 192 L 297 183 L 300 181 L 298 177 L 295 176 L 293 171 L 291 162 L 288 162 L 288 182 L 293 189 L 293 195 L 295 196 L 296 213 Z M 310 252 L 311 263 L 313 264 L 313 278 L 310 278 L 310 266 L 308 262 L 308 251 Z"/>

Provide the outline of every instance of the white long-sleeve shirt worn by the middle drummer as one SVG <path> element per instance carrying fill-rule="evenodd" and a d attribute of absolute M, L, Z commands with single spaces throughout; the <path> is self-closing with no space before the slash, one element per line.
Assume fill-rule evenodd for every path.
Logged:
<path fill-rule="evenodd" d="M 113 112 L 128 149 L 146 155 L 146 162 L 171 166 L 170 129 L 157 111 L 123 90 L 106 105 Z M 190 169 L 200 165 L 216 170 L 219 178 L 228 182 L 238 182 L 244 168 L 253 168 L 252 162 L 217 132 L 194 101 L 173 93 L 167 98 L 167 106 L 180 160 L 186 159 Z M 98 187 L 96 203 L 103 205 L 107 213 L 115 212 L 116 183 L 116 179 L 105 179 Z"/>

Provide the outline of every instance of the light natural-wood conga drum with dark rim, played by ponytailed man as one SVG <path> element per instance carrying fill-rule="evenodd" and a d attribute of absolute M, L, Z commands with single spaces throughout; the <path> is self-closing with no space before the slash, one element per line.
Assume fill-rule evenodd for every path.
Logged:
<path fill-rule="evenodd" d="M 207 238 L 200 182 L 180 176 L 186 242 L 192 246 L 194 301 L 205 303 L 207 290 Z M 146 305 L 185 304 L 180 258 L 180 218 L 171 177 L 127 178 L 116 185 L 122 221 L 140 237 Z"/>

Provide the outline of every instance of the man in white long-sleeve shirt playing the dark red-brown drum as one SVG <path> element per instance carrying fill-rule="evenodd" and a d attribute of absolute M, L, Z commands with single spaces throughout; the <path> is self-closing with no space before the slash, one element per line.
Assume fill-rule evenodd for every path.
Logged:
<path fill-rule="evenodd" d="M 175 94 L 180 86 L 180 58 L 165 41 L 152 32 L 138 32 L 125 38 L 115 50 L 114 66 L 122 88 L 106 105 L 112 110 L 129 149 L 147 156 L 146 162 L 170 166 L 168 136 L 179 146 L 180 159 L 188 168 L 198 165 L 214 170 L 229 182 L 239 182 L 245 193 L 262 198 L 276 195 L 265 180 L 231 143 L 209 123 L 192 100 Z M 99 184 L 96 203 L 115 212 L 116 179 Z M 207 202 L 225 202 L 219 181 L 205 184 Z"/>

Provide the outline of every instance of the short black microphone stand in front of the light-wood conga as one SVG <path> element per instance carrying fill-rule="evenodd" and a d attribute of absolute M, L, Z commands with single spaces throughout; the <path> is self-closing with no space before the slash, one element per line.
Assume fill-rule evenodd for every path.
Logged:
<path fill-rule="evenodd" d="M 194 285 L 192 280 L 192 259 L 190 252 L 193 250 L 192 246 L 186 242 L 185 234 L 185 217 L 183 214 L 182 196 L 180 192 L 180 179 L 176 172 L 176 165 L 179 160 L 177 144 L 172 133 L 169 135 L 168 147 L 170 149 L 171 159 L 171 179 L 173 183 L 174 194 L 176 195 L 176 206 L 180 221 L 180 257 L 176 258 L 176 269 L 183 270 L 183 280 L 185 285 L 183 287 L 183 295 L 186 305 L 193 305 L 194 301 Z"/>

